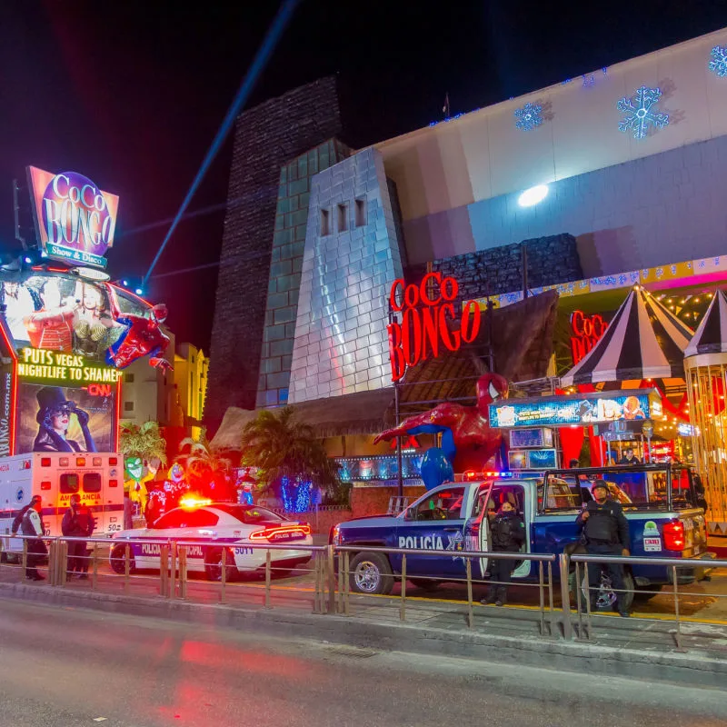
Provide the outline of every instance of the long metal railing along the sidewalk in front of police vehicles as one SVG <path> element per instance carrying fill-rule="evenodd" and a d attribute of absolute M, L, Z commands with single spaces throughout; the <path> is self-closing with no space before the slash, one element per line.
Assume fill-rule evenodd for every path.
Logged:
<path fill-rule="evenodd" d="M 39 568 L 47 573 L 47 584 L 51 587 L 68 587 L 71 585 L 69 576 L 72 573 L 72 566 L 78 568 L 78 562 L 70 563 L 73 556 L 69 555 L 69 545 L 72 543 L 86 543 L 85 554 L 80 556 L 82 565 L 81 571 L 87 573 L 90 590 L 99 591 L 102 589 L 118 589 L 119 585 L 125 594 L 142 594 L 159 596 L 173 601 L 203 600 L 207 603 L 213 599 L 217 603 L 231 606 L 251 604 L 262 606 L 265 609 L 274 607 L 305 607 L 310 606 L 312 612 L 317 614 L 338 614 L 344 617 L 355 615 L 366 615 L 372 604 L 394 603 L 398 607 L 398 619 L 406 622 L 408 614 L 412 611 L 419 612 L 422 609 L 437 613 L 463 613 L 464 622 L 468 629 L 478 626 L 482 622 L 479 614 L 486 613 L 486 618 L 502 620 L 503 626 L 508 625 L 508 619 L 518 618 L 520 622 L 533 623 L 530 614 L 534 613 L 537 622 L 538 633 L 545 638 L 563 638 L 565 640 L 593 641 L 599 636 L 599 629 L 612 627 L 612 621 L 602 620 L 601 612 L 593 612 L 591 608 L 591 595 L 600 590 L 600 584 L 589 583 L 587 565 L 598 563 L 601 566 L 618 564 L 630 569 L 632 566 L 652 566 L 667 569 L 670 573 L 670 583 L 663 591 L 640 590 L 641 593 L 661 593 L 666 599 L 660 599 L 661 607 L 664 608 L 671 602 L 671 612 L 667 614 L 640 614 L 639 621 L 646 619 L 649 622 L 663 622 L 667 617 L 668 624 L 674 624 L 673 641 L 677 650 L 684 650 L 686 636 L 685 622 L 690 621 L 682 612 L 683 599 L 700 596 L 709 599 L 727 598 L 727 588 L 724 593 L 719 593 L 713 588 L 709 593 L 694 593 L 683 583 L 683 571 L 692 572 L 694 569 L 727 569 L 727 560 L 702 561 L 695 559 L 672 559 L 672 558 L 644 558 L 644 557 L 618 557 L 606 555 L 567 555 L 565 553 L 538 554 L 538 553 L 482 553 L 479 551 L 433 551 L 413 548 L 386 548 L 361 545 L 304 545 L 300 543 L 228 543 L 220 541 L 195 541 L 184 540 L 174 541 L 159 539 L 134 539 L 122 538 L 70 538 L 70 537 L 42 537 L 35 538 L 27 535 L 16 535 L 15 538 L 23 543 L 22 552 L 15 553 L 18 563 L 13 565 L 0 566 L 0 582 L 7 581 L 7 574 L 10 578 L 13 574 L 20 573 L 20 578 L 25 578 L 26 569 L 32 567 L 33 553 L 28 548 L 31 541 L 42 540 L 47 546 L 47 563 L 39 564 Z M 0 545 L 6 539 L 0 539 Z M 151 546 L 150 556 L 157 557 L 156 566 L 150 566 L 158 573 L 151 574 L 141 572 L 135 567 L 133 546 Z M 88 547 L 90 546 L 90 548 Z M 255 557 L 248 564 L 237 563 L 234 560 L 234 549 L 244 547 L 248 554 Z M 202 553 L 209 553 L 211 550 L 218 552 L 214 558 L 203 555 L 194 559 L 194 566 L 191 566 L 191 549 L 199 548 Z M 158 549 L 158 552 L 157 550 Z M 111 558 L 112 552 L 115 557 Z M 260 553 L 258 553 L 260 552 Z M 280 552 L 296 553 L 294 563 L 290 559 L 281 562 L 276 557 Z M 301 554 L 303 553 L 303 555 Z M 308 563 L 304 561 L 304 554 L 310 553 Z M 352 568 L 352 559 L 358 553 L 370 553 L 383 555 L 387 561 L 392 556 L 396 558 L 397 572 L 383 573 L 383 577 L 390 579 L 391 588 L 385 588 L 385 593 L 364 593 L 355 589 L 356 566 Z M 78 557 L 78 556 L 76 556 Z M 433 578 L 423 573 L 421 563 L 416 572 L 412 568 L 412 558 L 442 558 L 449 561 L 452 558 L 463 560 L 463 569 L 460 574 L 453 577 Z M 509 583 L 498 583 L 492 578 L 485 579 L 473 574 L 473 560 L 486 557 L 490 561 L 510 561 L 531 563 L 530 583 L 523 582 L 519 578 L 513 578 Z M 553 565 L 557 563 L 557 565 Z M 202 567 L 204 564 L 204 567 Z M 115 568 L 111 567 L 112 565 Z M 194 578 L 193 571 L 206 571 L 206 566 L 212 565 L 218 568 L 219 576 L 213 581 Z M 533 571 L 533 566 L 535 571 Z M 312 583 L 300 583 L 299 581 L 286 581 L 280 578 L 294 568 L 297 576 L 312 579 Z M 424 569 L 425 570 L 425 569 Z M 461 574 L 463 571 L 463 575 Z M 246 573 L 255 573 L 260 580 L 246 578 Z M 4 575 L 5 573 L 5 575 Z M 209 572 L 205 573 L 207 576 Z M 262 583 L 261 583 L 262 581 Z M 463 586 L 466 591 L 466 598 L 453 602 L 435 598 L 423 599 L 421 596 L 412 594 L 412 586 L 408 583 L 414 582 L 446 582 Z M 560 583 L 559 583 L 560 582 Z M 573 587 L 574 582 L 574 587 Z M 74 582 L 75 584 L 75 582 Z M 537 605 L 526 606 L 525 609 L 488 609 L 486 612 L 477 611 L 479 606 L 474 589 L 484 586 L 502 584 L 509 588 L 517 589 L 516 602 L 527 601 L 523 599 L 526 589 L 537 591 Z M 560 587 L 558 587 L 558 584 Z M 78 584 L 80 586 L 80 583 Z M 150 589 L 149 586 L 153 586 Z M 352 585 L 354 588 L 352 588 Z M 398 588 L 398 593 L 394 589 Z M 667 590 L 668 589 L 668 590 Z M 152 593 L 150 593 L 150 591 Z M 262 593 L 261 593 L 262 591 Z M 612 593 L 616 593 L 611 589 Z M 620 592 L 626 593 L 626 590 Z M 252 594 L 252 598 L 251 598 Z M 378 602 L 375 599 L 379 599 Z M 560 603 L 558 603 L 560 602 Z M 517 603 L 511 605 L 517 606 Z M 464 606 L 464 612 L 463 612 Z M 388 608 L 391 606 L 389 605 Z M 527 611 L 530 608 L 530 611 Z M 413 613 L 412 618 L 417 618 Z M 694 621 L 694 619 L 692 619 Z M 707 620 L 709 622 L 709 620 Z M 723 622 L 714 621 L 713 642 L 724 642 L 727 638 L 727 629 L 722 628 Z M 605 632 L 605 629 L 604 629 Z M 671 633 L 671 632 L 669 632 Z"/>

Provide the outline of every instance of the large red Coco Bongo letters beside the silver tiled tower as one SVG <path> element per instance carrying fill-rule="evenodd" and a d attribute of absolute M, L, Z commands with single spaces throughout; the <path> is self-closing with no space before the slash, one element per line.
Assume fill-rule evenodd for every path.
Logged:
<path fill-rule="evenodd" d="M 481 311 L 474 301 L 463 304 L 459 319 L 454 309 L 460 286 L 453 277 L 427 273 L 420 284 L 406 285 L 395 280 L 389 304 L 401 321 L 393 321 L 389 334 L 389 355 L 392 381 L 402 378 L 407 367 L 436 358 L 440 344 L 447 351 L 458 351 L 462 344 L 471 344 L 480 332 Z M 459 330 L 450 324 L 459 321 Z"/>

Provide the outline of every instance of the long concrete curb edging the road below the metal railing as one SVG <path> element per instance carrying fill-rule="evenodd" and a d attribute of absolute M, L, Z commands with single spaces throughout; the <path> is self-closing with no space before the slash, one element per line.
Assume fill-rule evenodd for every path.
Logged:
<path fill-rule="evenodd" d="M 78 593 L 25 583 L 0 583 L 0 598 L 90 608 L 223 628 L 306 638 L 368 649 L 454 656 L 563 672 L 631 677 L 724 688 L 727 658 L 703 653 L 638 651 L 585 642 L 450 631 L 407 623 L 370 623 L 338 615 L 188 603 L 113 593 Z"/>

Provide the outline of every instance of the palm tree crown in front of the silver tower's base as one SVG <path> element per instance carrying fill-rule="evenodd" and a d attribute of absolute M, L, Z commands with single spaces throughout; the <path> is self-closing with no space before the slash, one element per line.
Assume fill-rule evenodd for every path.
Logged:
<path fill-rule="evenodd" d="M 242 449 L 243 465 L 256 467 L 262 483 L 272 485 L 286 477 L 312 482 L 329 492 L 340 485 L 338 466 L 314 437 L 313 428 L 296 421 L 289 406 L 258 412 L 244 427 Z"/>

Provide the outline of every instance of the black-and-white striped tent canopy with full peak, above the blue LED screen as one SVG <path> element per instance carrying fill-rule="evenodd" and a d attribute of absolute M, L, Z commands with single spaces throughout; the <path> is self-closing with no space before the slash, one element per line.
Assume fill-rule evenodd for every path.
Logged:
<path fill-rule="evenodd" d="M 641 286 L 581 362 L 561 378 L 574 383 L 683 378 L 684 349 L 694 332 Z"/>

